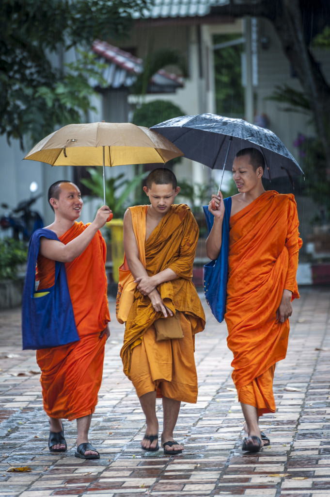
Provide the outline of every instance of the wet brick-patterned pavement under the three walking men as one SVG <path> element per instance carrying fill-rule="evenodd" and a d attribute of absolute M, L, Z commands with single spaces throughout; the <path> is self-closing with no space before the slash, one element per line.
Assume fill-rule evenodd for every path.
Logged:
<path fill-rule="evenodd" d="M 74 457 L 75 421 L 64 423 L 68 451 L 49 452 L 35 352 L 21 350 L 20 310 L 1 312 L 0 497 L 329 497 L 330 287 L 300 290 L 288 354 L 275 372 L 277 411 L 261 421 L 271 444 L 259 453 L 241 450 L 227 331 L 206 305 L 206 329 L 196 337 L 198 402 L 182 405 L 175 433 L 185 451 L 165 456 L 140 449 L 144 417 L 122 372 L 124 329 L 110 302 L 111 337 L 90 429 L 97 461 Z M 157 410 L 161 418 L 160 401 Z"/>

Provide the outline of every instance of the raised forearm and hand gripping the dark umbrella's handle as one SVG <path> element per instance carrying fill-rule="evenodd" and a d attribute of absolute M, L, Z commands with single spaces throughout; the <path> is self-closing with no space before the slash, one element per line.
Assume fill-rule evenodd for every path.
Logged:
<path fill-rule="evenodd" d="M 206 255 L 209 259 L 215 260 L 221 249 L 222 221 L 225 213 L 221 191 L 219 191 L 217 195 L 212 195 L 212 200 L 208 204 L 208 210 L 213 214 L 214 221 L 212 229 L 206 239 Z"/>

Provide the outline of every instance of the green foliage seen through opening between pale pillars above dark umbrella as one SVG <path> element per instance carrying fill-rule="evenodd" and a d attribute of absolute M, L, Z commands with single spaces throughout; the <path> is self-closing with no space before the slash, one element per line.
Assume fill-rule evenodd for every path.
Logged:
<path fill-rule="evenodd" d="M 235 40 L 236 34 L 214 36 L 214 43 Z M 244 88 L 241 71 L 242 44 L 214 50 L 215 99 L 218 114 L 233 117 L 244 115 Z"/>

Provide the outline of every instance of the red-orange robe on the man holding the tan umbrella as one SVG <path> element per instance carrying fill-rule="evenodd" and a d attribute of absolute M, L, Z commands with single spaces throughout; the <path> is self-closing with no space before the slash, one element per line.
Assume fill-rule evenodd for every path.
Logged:
<path fill-rule="evenodd" d="M 60 241 L 67 244 L 87 225 L 74 225 Z M 105 274 L 106 245 L 97 232 L 87 248 L 66 263 L 66 277 L 80 340 L 37 350 L 46 413 L 69 420 L 92 414 L 101 386 L 106 336 L 99 334 L 110 321 Z M 54 284 L 55 262 L 37 259 L 38 290 Z"/>

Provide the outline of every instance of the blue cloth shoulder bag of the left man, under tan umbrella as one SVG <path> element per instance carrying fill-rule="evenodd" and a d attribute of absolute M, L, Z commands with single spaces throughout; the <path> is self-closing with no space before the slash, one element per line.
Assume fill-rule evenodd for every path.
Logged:
<path fill-rule="evenodd" d="M 22 295 L 23 350 L 57 347 L 79 340 L 64 262 L 55 261 L 54 285 L 35 291 L 40 237 L 58 240 L 56 234 L 47 229 L 36 230 L 30 239 Z"/>

